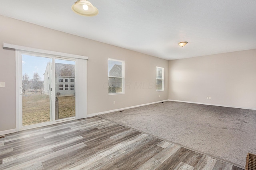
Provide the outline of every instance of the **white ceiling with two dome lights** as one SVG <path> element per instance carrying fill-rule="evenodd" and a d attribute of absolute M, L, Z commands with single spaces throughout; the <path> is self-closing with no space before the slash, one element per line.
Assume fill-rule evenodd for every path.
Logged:
<path fill-rule="evenodd" d="M 167 60 L 256 49 L 256 0 L 89 0 L 94 17 L 75 1 L 1 0 L 0 15 Z"/>

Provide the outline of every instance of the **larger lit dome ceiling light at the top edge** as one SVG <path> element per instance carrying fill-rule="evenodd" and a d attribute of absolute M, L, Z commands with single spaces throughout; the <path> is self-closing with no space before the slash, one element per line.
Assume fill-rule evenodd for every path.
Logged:
<path fill-rule="evenodd" d="M 78 0 L 75 4 L 72 5 L 72 10 L 81 16 L 96 16 L 99 11 L 98 9 L 92 5 L 88 0 Z"/>

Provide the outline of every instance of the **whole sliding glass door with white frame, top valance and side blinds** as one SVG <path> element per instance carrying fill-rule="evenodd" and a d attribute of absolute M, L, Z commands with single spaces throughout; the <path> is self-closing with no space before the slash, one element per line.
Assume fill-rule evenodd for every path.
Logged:
<path fill-rule="evenodd" d="M 16 131 L 87 117 L 88 57 L 4 46 L 20 49 L 16 49 Z"/>

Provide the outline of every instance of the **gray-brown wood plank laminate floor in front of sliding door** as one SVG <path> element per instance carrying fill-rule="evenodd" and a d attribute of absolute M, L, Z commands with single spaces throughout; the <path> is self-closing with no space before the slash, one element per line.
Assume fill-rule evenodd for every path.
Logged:
<path fill-rule="evenodd" d="M 98 117 L 6 135 L 2 169 L 242 170 Z"/>

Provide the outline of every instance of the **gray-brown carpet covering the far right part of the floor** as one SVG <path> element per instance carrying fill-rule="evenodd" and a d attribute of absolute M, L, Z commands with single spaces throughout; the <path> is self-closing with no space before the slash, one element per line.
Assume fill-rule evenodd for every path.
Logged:
<path fill-rule="evenodd" d="M 256 153 L 256 110 L 164 102 L 98 117 L 243 167 Z"/>

